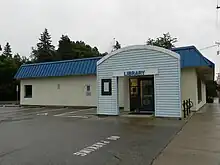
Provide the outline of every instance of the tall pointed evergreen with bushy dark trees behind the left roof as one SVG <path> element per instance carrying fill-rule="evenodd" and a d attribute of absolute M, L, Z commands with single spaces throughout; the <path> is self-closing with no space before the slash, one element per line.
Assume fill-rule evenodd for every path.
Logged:
<path fill-rule="evenodd" d="M 52 44 L 51 35 L 45 29 L 36 47 L 32 47 L 32 62 L 48 62 L 71 60 L 101 56 L 97 47 L 91 47 L 83 41 L 72 41 L 67 35 L 62 35 L 58 42 L 58 49 Z"/>

